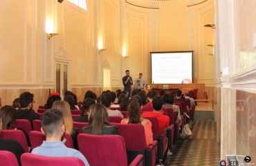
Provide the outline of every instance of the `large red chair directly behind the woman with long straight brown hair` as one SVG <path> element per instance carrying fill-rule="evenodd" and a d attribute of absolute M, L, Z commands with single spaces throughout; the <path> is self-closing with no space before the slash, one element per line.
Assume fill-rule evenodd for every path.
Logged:
<path fill-rule="evenodd" d="M 122 136 L 98 136 L 80 133 L 77 136 L 81 153 L 90 165 L 127 166 L 125 140 Z M 143 165 L 143 155 L 139 154 L 130 165 Z"/>

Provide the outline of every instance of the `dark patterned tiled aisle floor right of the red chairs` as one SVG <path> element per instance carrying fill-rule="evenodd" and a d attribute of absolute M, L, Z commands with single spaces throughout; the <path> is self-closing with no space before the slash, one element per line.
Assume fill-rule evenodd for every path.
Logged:
<path fill-rule="evenodd" d="M 174 143 L 165 165 L 219 165 L 220 142 L 216 142 L 216 122 L 190 122 L 192 135 Z"/>

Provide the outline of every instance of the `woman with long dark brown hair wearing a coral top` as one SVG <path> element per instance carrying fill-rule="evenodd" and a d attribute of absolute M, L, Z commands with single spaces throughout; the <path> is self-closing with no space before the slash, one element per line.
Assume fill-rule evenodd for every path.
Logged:
<path fill-rule="evenodd" d="M 123 119 L 121 124 L 142 124 L 145 129 L 147 145 L 153 142 L 152 123 L 141 116 L 142 101 L 140 96 L 134 95 L 128 107 L 128 118 Z"/>

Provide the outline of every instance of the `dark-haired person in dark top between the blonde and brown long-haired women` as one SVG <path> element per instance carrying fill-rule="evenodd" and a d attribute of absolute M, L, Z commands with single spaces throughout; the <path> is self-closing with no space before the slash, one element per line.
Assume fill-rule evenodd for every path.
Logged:
<path fill-rule="evenodd" d="M 89 122 L 88 116 L 89 116 L 89 108 L 91 105 L 95 104 L 95 100 L 92 98 L 86 98 L 84 102 L 82 103 L 82 110 L 81 110 L 81 116 L 75 118 L 74 122 Z"/>

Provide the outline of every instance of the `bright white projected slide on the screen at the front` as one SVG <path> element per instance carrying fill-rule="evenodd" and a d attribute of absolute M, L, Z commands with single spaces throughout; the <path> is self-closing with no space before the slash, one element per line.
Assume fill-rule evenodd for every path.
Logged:
<path fill-rule="evenodd" d="M 193 52 L 151 53 L 152 84 L 192 84 Z"/>

